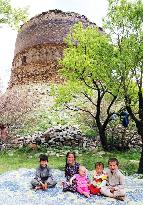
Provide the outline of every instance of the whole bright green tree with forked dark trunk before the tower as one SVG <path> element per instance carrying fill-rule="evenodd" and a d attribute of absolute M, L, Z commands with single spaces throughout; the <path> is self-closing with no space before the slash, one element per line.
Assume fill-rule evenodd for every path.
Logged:
<path fill-rule="evenodd" d="M 60 71 L 67 82 L 60 87 L 57 101 L 69 109 L 88 113 L 97 125 L 103 149 L 107 150 L 106 129 L 120 88 L 120 83 L 116 83 L 114 90 L 110 91 L 112 81 L 117 82 L 111 73 L 115 66 L 111 60 L 114 58 L 114 46 L 109 36 L 98 28 L 83 28 L 81 23 L 74 26 L 66 43 L 68 47 L 64 50 Z M 79 98 L 78 105 L 75 105 L 75 96 Z M 74 104 L 71 105 L 73 97 Z M 106 106 L 103 105 L 105 101 Z"/>

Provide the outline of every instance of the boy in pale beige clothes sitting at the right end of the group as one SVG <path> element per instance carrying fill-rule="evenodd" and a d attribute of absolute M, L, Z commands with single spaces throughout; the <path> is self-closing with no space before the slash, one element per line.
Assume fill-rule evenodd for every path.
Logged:
<path fill-rule="evenodd" d="M 101 193 L 104 196 L 116 198 L 124 201 L 125 190 L 124 175 L 118 169 L 119 162 L 116 158 L 110 158 L 108 160 L 109 170 L 107 171 L 108 179 L 107 186 L 101 187 Z"/>

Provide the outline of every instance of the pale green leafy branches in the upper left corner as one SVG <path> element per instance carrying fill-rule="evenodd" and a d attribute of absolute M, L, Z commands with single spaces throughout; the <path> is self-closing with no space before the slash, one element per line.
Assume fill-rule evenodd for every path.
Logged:
<path fill-rule="evenodd" d="M 0 24 L 8 24 L 14 29 L 27 21 L 27 9 L 13 8 L 10 0 L 0 0 Z"/>

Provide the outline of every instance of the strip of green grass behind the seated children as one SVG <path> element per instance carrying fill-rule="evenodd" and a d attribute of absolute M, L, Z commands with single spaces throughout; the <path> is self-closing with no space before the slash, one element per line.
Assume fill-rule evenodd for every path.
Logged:
<path fill-rule="evenodd" d="M 65 155 L 69 151 L 69 148 L 64 149 L 48 149 L 48 152 L 54 152 L 53 156 L 49 156 L 49 166 L 52 168 L 64 170 Z M 97 161 L 102 161 L 107 167 L 107 162 L 110 157 L 118 158 L 120 162 L 120 169 L 128 175 L 132 175 L 137 172 L 138 163 L 140 158 L 140 152 L 132 150 L 128 152 L 104 152 L 97 150 L 96 152 L 77 151 L 77 161 L 86 166 L 88 170 L 94 169 L 94 164 Z M 38 156 L 40 153 L 47 153 L 47 149 L 40 148 L 37 151 L 30 149 L 19 149 L 11 151 L 0 152 L 0 173 L 4 173 L 10 170 L 16 170 L 19 168 L 36 168 L 38 166 Z"/>

